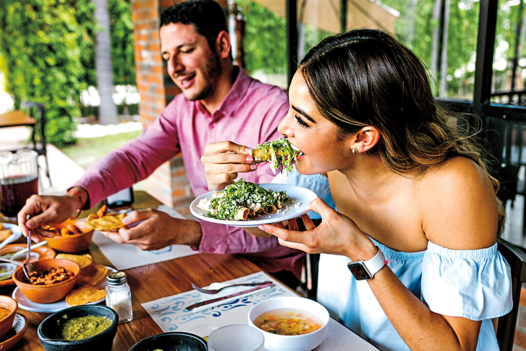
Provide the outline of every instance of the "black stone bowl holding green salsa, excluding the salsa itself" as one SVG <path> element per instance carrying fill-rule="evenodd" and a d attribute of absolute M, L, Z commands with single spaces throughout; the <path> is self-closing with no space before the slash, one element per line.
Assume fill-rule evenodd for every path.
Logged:
<path fill-rule="evenodd" d="M 94 336 L 90 336 L 81 340 L 66 341 L 57 340 L 56 332 L 57 326 L 60 324 L 59 320 L 66 315 L 67 318 L 83 317 L 83 316 L 102 316 L 110 319 L 112 325 Z M 58 322 L 58 323 L 57 323 Z M 113 345 L 113 339 L 117 334 L 117 324 L 119 322 L 119 315 L 114 309 L 104 305 L 82 305 L 64 308 L 48 316 L 38 326 L 38 338 L 46 351 L 110 351 Z"/>

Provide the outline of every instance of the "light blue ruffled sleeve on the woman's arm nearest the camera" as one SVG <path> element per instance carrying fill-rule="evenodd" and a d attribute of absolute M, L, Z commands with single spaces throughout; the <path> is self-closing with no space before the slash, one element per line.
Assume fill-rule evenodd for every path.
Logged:
<path fill-rule="evenodd" d="M 497 243 L 477 250 L 452 250 L 428 243 L 422 260 L 422 300 L 436 313 L 472 320 L 510 312 L 510 266 Z"/>

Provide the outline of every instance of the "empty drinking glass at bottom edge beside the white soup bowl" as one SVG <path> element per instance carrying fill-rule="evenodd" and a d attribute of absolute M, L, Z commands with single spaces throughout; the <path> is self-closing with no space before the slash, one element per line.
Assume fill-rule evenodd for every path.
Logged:
<path fill-rule="evenodd" d="M 264 346 L 263 333 L 249 325 L 227 325 L 208 336 L 209 351 L 263 351 Z"/>

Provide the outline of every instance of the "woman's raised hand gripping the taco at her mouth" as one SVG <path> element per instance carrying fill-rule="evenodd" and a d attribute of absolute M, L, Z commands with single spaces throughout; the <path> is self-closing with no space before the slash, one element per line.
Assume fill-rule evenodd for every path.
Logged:
<path fill-rule="evenodd" d="M 252 172 L 257 168 L 250 156 L 250 148 L 232 142 L 208 144 L 201 156 L 205 165 L 206 183 L 210 190 L 221 190 L 234 183 L 239 172 Z"/>

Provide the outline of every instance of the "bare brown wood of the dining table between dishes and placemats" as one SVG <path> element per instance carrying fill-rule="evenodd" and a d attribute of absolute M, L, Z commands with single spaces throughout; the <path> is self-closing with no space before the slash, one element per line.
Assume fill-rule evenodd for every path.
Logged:
<path fill-rule="evenodd" d="M 89 247 L 89 253 L 92 254 L 94 262 L 111 266 L 95 244 L 92 243 Z M 163 333 L 141 303 L 191 290 L 191 283 L 206 286 L 260 270 L 245 258 L 218 254 L 190 255 L 126 270 L 133 302 L 133 320 L 118 325 L 112 350 L 127 351 L 140 339 Z M 13 289 L 14 287 L 0 288 L 0 294 L 11 296 Z M 24 338 L 13 350 L 43 350 L 38 340 L 37 328 L 50 314 L 29 312 L 20 308 L 18 313 L 27 317 L 29 326 Z"/>

